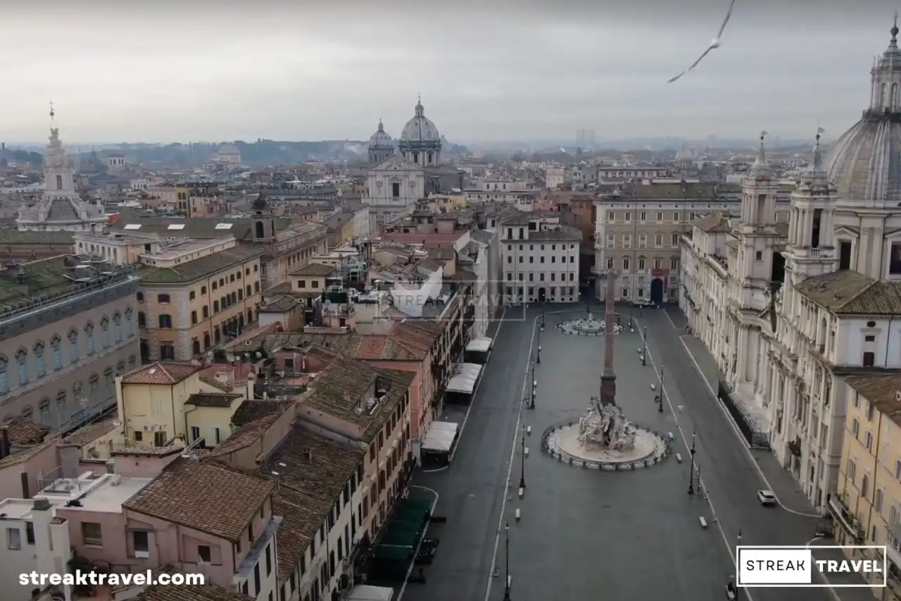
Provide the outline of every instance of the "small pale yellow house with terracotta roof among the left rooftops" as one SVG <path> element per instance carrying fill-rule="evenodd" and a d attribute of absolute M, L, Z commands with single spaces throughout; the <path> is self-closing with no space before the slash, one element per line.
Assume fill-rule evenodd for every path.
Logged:
<path fill-rule="evenodd" d="M 223 393 L 190 363 L 153 363 L 119 378 L 119 432 L 124 447 L 164 447 L 198 439 L 213 447 L 232 434 L 232 415 L 247 390 Z"/>

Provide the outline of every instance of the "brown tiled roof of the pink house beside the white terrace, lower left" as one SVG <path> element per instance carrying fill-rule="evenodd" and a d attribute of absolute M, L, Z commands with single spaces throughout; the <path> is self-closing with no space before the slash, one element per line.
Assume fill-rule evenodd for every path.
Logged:
<path fill-rule="evenodd" d="M 237 542 L 274 490 L 209 459 L 177 458 L 123 507 Z"/>

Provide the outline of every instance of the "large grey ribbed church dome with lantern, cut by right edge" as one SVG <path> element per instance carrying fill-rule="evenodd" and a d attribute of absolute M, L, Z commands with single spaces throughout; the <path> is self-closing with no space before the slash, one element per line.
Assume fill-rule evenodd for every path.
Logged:
<path fill-rule="evenodd" d="M 871 207 L 901 203 L 901 51 L 897 24 L 870 71 L 869 108 L 833 145 L 825 162 L 840 201 Z"/>

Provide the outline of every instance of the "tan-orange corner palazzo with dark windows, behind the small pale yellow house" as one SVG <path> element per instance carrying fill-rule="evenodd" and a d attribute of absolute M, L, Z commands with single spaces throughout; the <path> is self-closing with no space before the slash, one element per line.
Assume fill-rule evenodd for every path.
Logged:
<path fill-rule="evenodd" d="M 141 273 L 138 324 L 144 360 L 185 361 L 256 320 L 262 249 L 235 246 Z"/>

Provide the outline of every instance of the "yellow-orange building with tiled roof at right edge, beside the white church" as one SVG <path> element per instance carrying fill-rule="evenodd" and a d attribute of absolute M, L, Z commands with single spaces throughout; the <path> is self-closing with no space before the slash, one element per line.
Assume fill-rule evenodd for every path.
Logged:
<path fill-rule="evenodd" d="M 874 591 L 901 599 L 901 375 L 842 379 L 848 409 L 838 483 L 829 496 L 835 544 L 885 545 L 888 587 Z M 883 558 L 877 551 L 851 559 Z"/>

